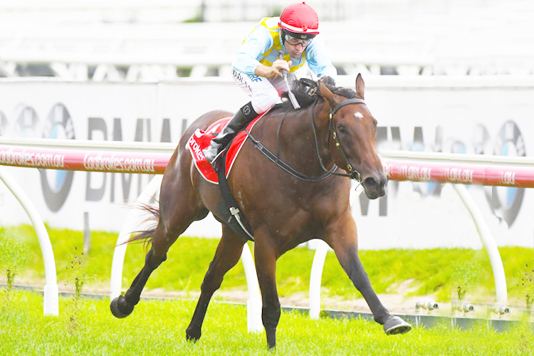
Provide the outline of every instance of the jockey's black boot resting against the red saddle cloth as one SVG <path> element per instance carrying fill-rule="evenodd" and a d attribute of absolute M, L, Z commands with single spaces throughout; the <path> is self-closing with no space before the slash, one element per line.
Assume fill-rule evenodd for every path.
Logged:
<path fill-rule="evenodd" d="M 226 124 L 221 132 L 211 139 L 210 145 L 204 150 L 204 157 L 211 164 L 214 164 L 214 159 L 219 155 L 219 153 L 226 147 L 236 134 L 246 127 L 248 122 L 251 122 L 258 114 L 252 108 L 251 103 L 244 105 L 243 108 L 239 109 L 234 117 Z"/>

